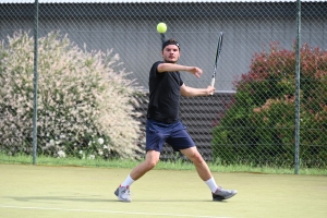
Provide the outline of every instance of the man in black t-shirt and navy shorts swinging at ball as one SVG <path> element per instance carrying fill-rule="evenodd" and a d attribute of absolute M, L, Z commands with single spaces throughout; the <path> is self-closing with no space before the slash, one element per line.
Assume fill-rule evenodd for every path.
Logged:
<path fill-rule="evenodd" d="M 180 150 L 195 166 L 199 178 L 208 185 L 214 201 L 222 201 L 238 193 L 235 190 L 225 190 L 218 186 L 213 174 L 198 153 L 186 128 L 179 120 L 180 96 L 208 96 L 215 88 L 193 88 L 181 80 L 180 72 L 184 71 L 199 77 L 203 71 L 197 66 L 177 64 L 181 56 L 180 45 L 174 39 L 162 44 L 164 61 L 153 64 L 149 72 L 149 104 L 146 121 L 146 157 L 145 161 L 135 167 L 114 194 L 121 202 L 131 202 L 130 186 L 159 161 L 165 143 L 174 150 Z"/>

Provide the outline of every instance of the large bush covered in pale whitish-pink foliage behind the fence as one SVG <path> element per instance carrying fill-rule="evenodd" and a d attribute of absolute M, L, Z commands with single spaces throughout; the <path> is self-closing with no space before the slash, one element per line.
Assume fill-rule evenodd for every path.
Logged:
<path fill-rule="evenodd" d="M 34 38 L 0 45 L 0 149 L 32 154 Z M 81 49 L 68 36 L 38 40 L 38 154 L 58 158 L 137 158 L 135 83 L 119 56 Z"/>

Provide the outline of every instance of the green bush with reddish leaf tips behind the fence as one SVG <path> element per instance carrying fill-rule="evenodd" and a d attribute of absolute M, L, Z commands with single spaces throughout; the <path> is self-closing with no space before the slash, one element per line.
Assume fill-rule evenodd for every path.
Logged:
<path fill-rule="evenodd" d="M 327 166 L 327 51 L 301 48 L 300 156 Z M 294 159 L 295 51 L 272 43 L 235 81 L 229 110 L 214 128 L 214 157 L 225 164 L 287 166 Z"/>

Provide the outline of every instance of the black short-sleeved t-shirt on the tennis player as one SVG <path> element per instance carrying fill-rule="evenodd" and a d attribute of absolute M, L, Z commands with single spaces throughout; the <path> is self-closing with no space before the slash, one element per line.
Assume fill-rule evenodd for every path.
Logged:
<path fill-rule="evenodd" d="M 183 85 L 180 72 L 157 71 L 157 61 L 149 72 L 149 104 L 147 118 L 173 123 L 179 120 L 180 90 Z"/>

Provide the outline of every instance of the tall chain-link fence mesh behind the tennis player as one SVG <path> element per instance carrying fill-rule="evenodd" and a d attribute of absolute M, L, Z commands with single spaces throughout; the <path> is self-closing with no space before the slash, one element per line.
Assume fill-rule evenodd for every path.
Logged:
<path fill-rule="evenodd" d="M 298 122 L 300 164 L 326 168 L 327 2 L 301 3 L 300 119 L 296 5 L 295 0 L 2 0 L 1 153 L 32 154 L 37 33 L 38 155 L 143 157 L 148 72 L 161 60 L 156 25 L 165 22 L 166 37 L 181 45 L 179 63 L 204 71 L 201 78 L 182 73 L 192 87 L 209 84 L 219 32 L 225 33 L 215 95 L 181 99 L 181 119 L 207 160 L 292 167 Z M 166 146 L 161 158 L 174 157 Z"/>

